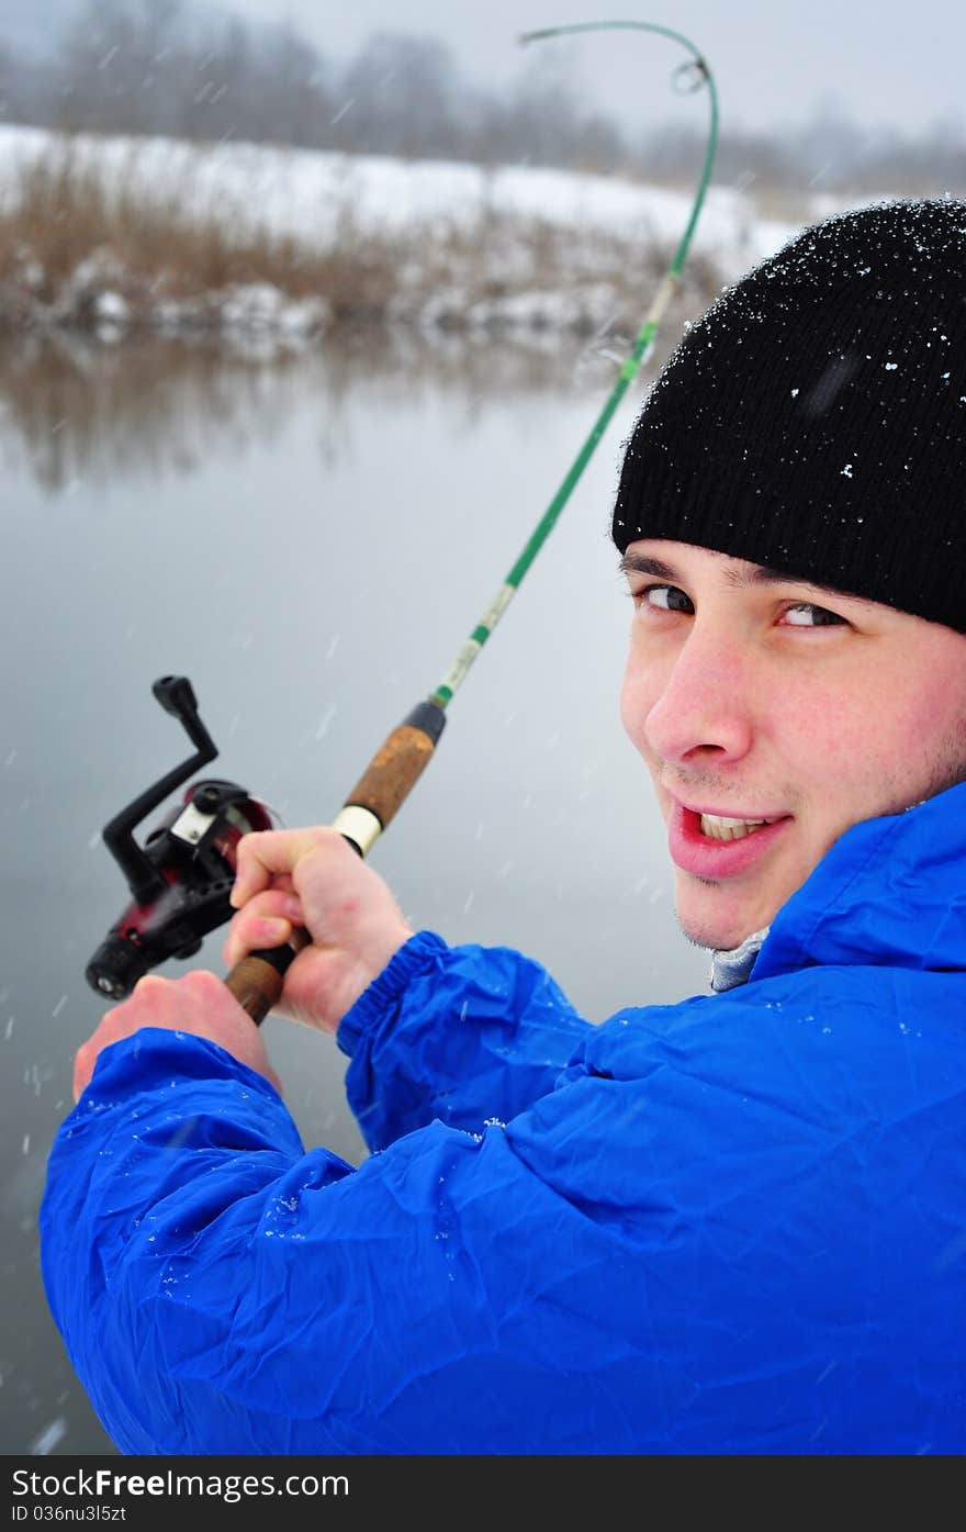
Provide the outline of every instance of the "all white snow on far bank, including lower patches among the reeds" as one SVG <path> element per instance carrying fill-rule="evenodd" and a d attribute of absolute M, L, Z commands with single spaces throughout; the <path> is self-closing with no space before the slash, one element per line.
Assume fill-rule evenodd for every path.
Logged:
<path fill-rule="evenodd" d="M 559 290 L 539 291 L 539 271 L 533 271 L 533 248 L 525 230 L 540 224 L 568 242 L 574 262 L 589 251 L 592 241 L 617 241 L 628 251 L 660 245 L 677 248 L 692 210 L 693 192 L 635 184 L 617 176 L 591 176 L 565 170 L 525 165 L 481 167 L 445 161 L 407 161 L 387 156 L 354 156 L 297 150 L 262 144 L 199 146 L 162 138 L 103 138 L 77 135 L 63 138 L 41 129 L 0 126 L 0 216 L 15 211 L 21 176 L 51 153 L 69 155 L 70 173 L 93 175 L 109 195 L 124 193 L 153 208 L 175 207 L 179 216 L 210 224 L 214 218 L 233 237 L 268 234 L 291 239 L 306 251 L 321 254 L 351 241 L 372 236 L 406 239 L 409 251 L 439 247 L 453 233 L 472 236 L 487 245 L 487 276 L 513 274 L 516 291 L 504 299 L 479 302 L 453 273 L 450 288 L 441 285 L 432 303 L 421 302 L 419 313 L 406 309 L 404 273 L 400 313 L 410 322 L 452 323 L 453 313 L 473 314 L 478 325 L 559 323 L 573 316 L 574 300 Z M 819 204 L 810 210 L 819 216 Z M 712 184 L 690 245 L 713 264 L 723 282 L 735 280 L 755 262 L 778 250 L 801 225 L 758 218 L 747 193 Z M 507 237 L 517 231 L 519 237 Z M 92 253 L 93 254 L 93 253 Z M 407 259 L 410 259 L 407 256 Z M 585 267 L 589 257 L 585 256 Z M 611 254 L 611 259 L 612 254 Z M 501 273 L 501 260 L 504 268 Z M 521 267 L 528 277 L 521 291 Z M 122 334 L 129 314 L 124 297 L 113 291 L 109 268 L 98 277 L 90 260 L 84 279 L 75 274 L 55 317 L 70 317 L 81 299 L 106 331 Z M 78 268 L 80 270 L 80 268 Z M 92 274 L 93 273 L 93 274 Z M 559 279 L 557 279 L 559 288 Z M 80 296 L 78 296 L 80 294 Z M 608 294 L 600 294 L 606 309 Z M 569 306 L 568 306 L 569 303 Z M 582 299 L 583 320 L 596 323 L 596 305 Z M 73 308 L 72 308 L 73 305 Z M 589 305 L 589 306 L 588 306 Z M 202 303 L 204 308 L 204 303 Z M 537 314 L 539 311 L 539 314 Z M 219 294 L 222 326 L 250 329 L 288 329 L 291 334 L 325 328 L 325 302 L 300 306 L 271 297 L 265 283 L 256 291 L 234 288 Z M 210 317 L 210 308 L 205 311 Z M 199 322 L 199 300 L 187 308 L 167 300 L 158 303 L 153 322 L 161 328 Z"/>

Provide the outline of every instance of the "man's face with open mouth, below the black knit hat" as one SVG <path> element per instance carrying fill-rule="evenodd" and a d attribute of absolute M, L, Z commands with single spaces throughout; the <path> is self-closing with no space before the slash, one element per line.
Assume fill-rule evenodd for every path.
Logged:
<path fill-rule="evenodd" d="M 851 824 L 966 777 L 966 636 L 686 542 L 622 567 L 620 711 L 692 941 L 736 947 Z"/>

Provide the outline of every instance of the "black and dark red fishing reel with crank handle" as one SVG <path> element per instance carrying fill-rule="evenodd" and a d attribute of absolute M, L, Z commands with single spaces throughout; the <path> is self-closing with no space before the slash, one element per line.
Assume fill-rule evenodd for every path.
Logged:
<path fill-rule="evenodd" d="M 132 902 L 87 964 L 86 979 L 112 1000 L 122 1000 L 168 958 L 191 958 L 208 931 L 231 919 L 239 841 L 250 830 L 273 829 L 269 810 L 245 787 L 211 778 L 187 787 L 138 846 L 135 827 L 217 755 L 187 676 L 162 676 L 152 691 L 165 712 L 181 720 L 196 754 L 104 826 L 104 844 L 124 873 Z"/>

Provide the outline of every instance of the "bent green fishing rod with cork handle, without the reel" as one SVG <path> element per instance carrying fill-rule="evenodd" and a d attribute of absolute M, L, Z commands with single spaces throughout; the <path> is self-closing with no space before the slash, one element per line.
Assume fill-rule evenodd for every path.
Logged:
<path fill-rule="evenodd" d="M 693 43 L 690 43 L 680 32 L 674 32 L 666 26 L 657 26 L 651 21 L 579 21 L 569 26 L 551 26 L 540 28 L 540 31 L 536 32 L 525 32 L 519 41 L 527 44 L 548 37 L 563 37 L 568 32 L 599 32 L 615 28 L 657 32 L 660 37 L 680 43 L 690 54 L 690 63 L 683 64 L 677 70 L 677 75 L 687 75 L 690 78 L 690 89 L 698 89 L 700 86 L 707 87 L 710 121 L 704 162 L 701 165 L 698 188 L 690 207 L 687 225 L 658 286 L 651 309 L 648 311 L 648 316 L 634 340 L 631 352 L 620 368 L 614 388 L 605 400 L 603 409 L 597 415 L 586 441 L 574 458 L 557 493 L 553 496 L 550 506 L 530 535 L 522 553 L 510 568 L 507 578 L 498 588 L 487 610 L 482 613 L 479 622 L 462 643 L 456 659 L 439 685 L 426 700 L 416 703 L 403 723 L 400 723 L 386 738 L 332 821 L 332 827 L 355 847 L 360 856 L 369 855 L 378 836 L 393 820 L 400 806 L 423 775 L 430 755 L 439 743 L 439 737 L 445 725 L 445 708 L 452 702 L 458 688 L 464 683 L 484 643 L 496 628 L 496 624 L 507 611 L 507 607 L 519 590 L 524 576 L 553 532 L 560 512 L 574 490 L 574 486 L 589 463 L 597 443 L 603 437 L 614 411 L 617 409 L 631 381 L 648 360 L 654 348 L 654 340 L 663 314 L 680 282 L 681 270 L 698 224 L 698 216 L 710 182 L 718 147 L 718 93 L 713 75 Z M 297 928 L 292 931 L 291 939 L 285 945 L 248 953 L 228 973 L 225 984 L 254 1022 L 262 1022 L 265 1016 L 268 1016 L 282 993 L 282 982 L 286 968 L 294 961 L 295 954 L 309 942 L 309 933 Z"/>

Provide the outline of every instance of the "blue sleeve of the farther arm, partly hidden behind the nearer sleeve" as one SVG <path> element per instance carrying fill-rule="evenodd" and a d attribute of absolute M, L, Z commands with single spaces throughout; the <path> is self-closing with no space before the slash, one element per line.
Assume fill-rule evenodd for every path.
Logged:
<path fill-rule="evenodd" d="M 346 1094 L 370 1149 L 439 1118 L 479 1131 L 547 1095 L 589 1022 L 508 947 L 447 947 L 419 931 L 338 1028 Z"/>

